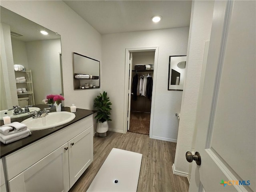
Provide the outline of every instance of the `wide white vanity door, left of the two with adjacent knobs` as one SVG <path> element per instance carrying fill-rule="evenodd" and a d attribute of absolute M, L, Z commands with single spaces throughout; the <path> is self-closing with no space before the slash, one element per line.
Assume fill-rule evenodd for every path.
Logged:
<path fill-rule="evenodd" d="M 67 147 L 68 143 L 8 181 L 10 192 L 67 192 L 70 189 Z"/>

